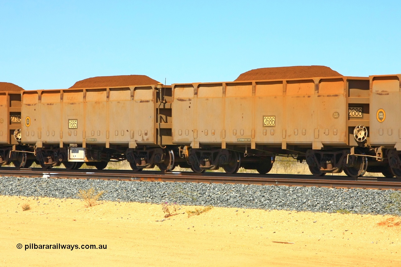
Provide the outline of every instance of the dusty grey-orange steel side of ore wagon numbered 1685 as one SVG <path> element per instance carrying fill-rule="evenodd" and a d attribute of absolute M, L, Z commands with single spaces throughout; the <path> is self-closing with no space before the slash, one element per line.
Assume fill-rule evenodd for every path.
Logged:
<path fill-rule="evenodd" d="M 57 144 L 135 148 L 155 144 L 156 85 L 22 92 L 22 136 L 37 147 Z"/>

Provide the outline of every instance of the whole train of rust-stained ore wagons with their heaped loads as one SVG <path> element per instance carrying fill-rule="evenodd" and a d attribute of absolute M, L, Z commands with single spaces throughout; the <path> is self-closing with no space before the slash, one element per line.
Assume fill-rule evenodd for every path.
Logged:
<path fill-rule="evenodd" d="M 256 69 L 227 82 L 169 86 L 126 75 L 0 92 L 0 122 L 10 117 L 0 123 L 1 164 L 103 169 L 126 160 L 134 171 L 179 165 L 265 174 L 286 156 L 315 176 L 401 178 L 401 75 L 307 67 Z"/>

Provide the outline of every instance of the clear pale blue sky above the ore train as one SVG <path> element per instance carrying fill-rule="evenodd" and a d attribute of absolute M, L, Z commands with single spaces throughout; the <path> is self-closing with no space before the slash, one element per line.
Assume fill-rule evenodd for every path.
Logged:
<path fill-rule="evenodd" d="M 398 1 L 0 0 L 0 81 L 60 89 L 94 76 L 232 81 L 261 67 L 401 73 Z"/>

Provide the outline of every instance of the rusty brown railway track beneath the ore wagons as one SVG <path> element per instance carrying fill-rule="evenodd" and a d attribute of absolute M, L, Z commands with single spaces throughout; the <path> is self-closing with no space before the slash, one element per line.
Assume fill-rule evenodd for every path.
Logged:
<path fill-rule="evenodd" d="M 401 181 L 394 178 L 363 177 L 355 180 L 346 176 L 323 176 L 320 179 L 311 175 L 288 174 L 235 174 L 209 172 L 197 174 L 194 172 L 156 172 L 129 170 L 66 170 L 40 168 L 20 169 L 1 168 L 1 176 L 17 177 L 45 177 L 45 178 L 70 178 L 70 179 L 101 179 L 122 181 L 158 181 L 158 182 L 203 182 L 222 184 L 258 184 L 276 186 L 319 186 L 328 188 L 363 188 L 363 189 L 393 189 L 401 190 Z"/>

